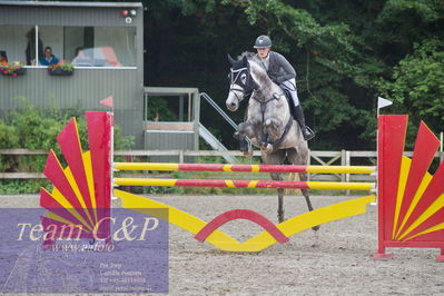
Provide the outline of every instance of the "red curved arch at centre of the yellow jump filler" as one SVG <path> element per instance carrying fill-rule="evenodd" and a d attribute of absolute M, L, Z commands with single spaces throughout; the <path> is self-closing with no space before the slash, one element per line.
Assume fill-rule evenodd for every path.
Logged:
<path fill-rule="evenodd" d="M 265 230 L 267 230 L 280 244 L 288 241 L 288 237 L 286 237 L 283 231 L 280 231 L 276 227 L 276 225 L 274 225 L 263 215 L 249 209 L 233 209 L 220 214 L 210 223 L 208 223 L 204 228 L 201 228 L 200 231 L 195 236 L 195 238 L 199 241 L 204 241 L 214 230 L 216 230 L 224 224 L 236 219 L 246 219 L 256 223 Z"/>

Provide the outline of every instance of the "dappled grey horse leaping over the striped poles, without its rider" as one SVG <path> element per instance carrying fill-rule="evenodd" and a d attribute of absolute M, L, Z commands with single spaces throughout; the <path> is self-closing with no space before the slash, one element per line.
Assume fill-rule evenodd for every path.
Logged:
<path fill-rule="evenodd" d="M 238 137 L 248 137 L 260 148 L 263 162 L 282 165 L 287 159 L 293 165 L 308 164 L 308 145 L 304 140 L 299 125 L 293 119 L 284 91 L 268 77 L 259 58 L 244 52 L 237 60 L 228 55 L 231 65 L 228 78 L 230 87 L 226 100 L 227 109 L 236 111 L 244 98 L 249 97 L 246 121 L 239 124 Z M 273 180 L 283 180 L 280 172 L 272 172 Z M 299 172 L 302 181 L 307 174 Z M 313 210 L 308 189 L 302 189 L 308 210 Z M 279 223 L 284 217 L 284 189 L 277 189 Z M 318 230 L 319 226 L 313 227 Z"/>

